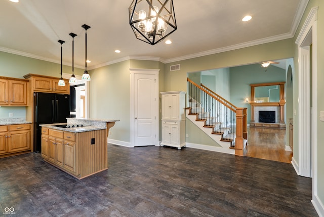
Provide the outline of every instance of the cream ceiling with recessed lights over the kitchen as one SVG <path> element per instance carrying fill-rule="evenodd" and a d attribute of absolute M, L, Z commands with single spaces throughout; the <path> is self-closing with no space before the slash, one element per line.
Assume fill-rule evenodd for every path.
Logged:
<path fill-rule="evenodd" d="M 0 1 L 0 51 L 88 69 L 124 59 L 172 62 L 190 57 L 292 38 L 308 0 L 173 0 L 178 29 L 154 46 L 135 38 L 129 25 L 132 0 Z M 241 19 L 251 15 L 249 22 Z M 114 50 L 121 53 L 115 53 Z"/>

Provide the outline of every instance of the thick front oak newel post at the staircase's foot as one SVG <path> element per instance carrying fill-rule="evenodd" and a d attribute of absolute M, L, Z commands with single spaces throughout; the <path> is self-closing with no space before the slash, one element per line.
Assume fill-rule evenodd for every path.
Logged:
<path fill-rule="evenodd" d="M 235 155 L 243 156 L 244 108 L 236 108 Z"/>

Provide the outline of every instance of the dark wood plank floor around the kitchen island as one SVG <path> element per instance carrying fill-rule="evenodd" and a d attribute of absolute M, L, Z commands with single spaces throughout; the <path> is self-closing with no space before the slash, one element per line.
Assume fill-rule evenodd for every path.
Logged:
<path fill-rule="evenodd" d="M 6 207 L 15 216 L 317 216 L 311 178 L 288 163 L 190 148 L 108 150 L 109 169 L 82 180 L 40 154 L 0 159 L 0 216 Z"/>

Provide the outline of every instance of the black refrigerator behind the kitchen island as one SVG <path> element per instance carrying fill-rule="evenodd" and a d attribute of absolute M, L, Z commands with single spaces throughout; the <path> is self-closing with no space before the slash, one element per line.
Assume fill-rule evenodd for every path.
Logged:
<path fill-rule="evenodd" d="M 70 117 L 70 95 L 34 93 L 34 152 L 41 152 L 42 127 L 39 124 L 66 123 Z"/>

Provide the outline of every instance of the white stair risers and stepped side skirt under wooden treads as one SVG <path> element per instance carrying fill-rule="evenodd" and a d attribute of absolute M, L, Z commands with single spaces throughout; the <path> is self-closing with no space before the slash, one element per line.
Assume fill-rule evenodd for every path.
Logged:
<path fill-rule="evenodd" d="M 234 149 L 230 149 L 230 142 L 221 141 L 222 135 L 219 134 L 212 134 L 213 128 L 210 127 L 204 127 L 205 122 L 204 121 L 196 121 L 196 115 L 189 115 L 188 112 L 186 112 L 186 117 L 189 119 L 194 125 L 196 125 L 201 131 L 205 132 L 206 135 L 211 137 L 217 144 L 219 144 L 220 147 L 213 147 L 213 151 L 221 152 L 221 153 L 227 153 L 227 154 L 235 154 Z M 205 145 L 203 145 L 205 146 Z M 187 147 L 188 144 L 187 144 Z M 192 147 L 196 148 L 196 147 Z M 204 148 L 201 148 L 204 149 Z"/>

